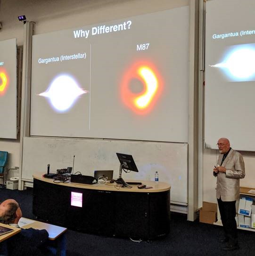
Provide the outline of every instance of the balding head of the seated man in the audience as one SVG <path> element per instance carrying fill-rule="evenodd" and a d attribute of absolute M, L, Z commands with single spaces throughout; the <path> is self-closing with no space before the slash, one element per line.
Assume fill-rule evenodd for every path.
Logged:
<path fill-rule="evenodd" d="M 0 204 L 0 223 L 17 224 L 22 217 L 22 211 L 14 199 L 7 199 Z"/>

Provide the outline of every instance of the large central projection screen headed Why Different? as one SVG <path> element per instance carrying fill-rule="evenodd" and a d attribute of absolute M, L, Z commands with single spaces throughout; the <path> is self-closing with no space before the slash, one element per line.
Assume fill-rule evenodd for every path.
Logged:
<path fill-rule="evenodd" d="M 188 141 L 189 7 L 33 36 L 31 135 Z"/>

